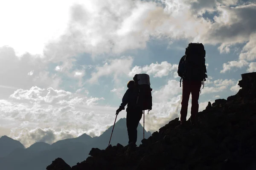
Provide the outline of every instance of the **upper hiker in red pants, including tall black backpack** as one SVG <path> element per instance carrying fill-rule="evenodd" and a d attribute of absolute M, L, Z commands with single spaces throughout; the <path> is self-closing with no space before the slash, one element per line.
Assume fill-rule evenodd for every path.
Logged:
<path fill-rule="evenodd" d="M 180 110 L 180 124 L 186 123 L 186 116 L 189 105 L 189 96 L 192 95 L 192 107 L 190 122 L 195 124 L 195 116 L 198 113 L 199 93 L 201 86 L 207 78 L 205 65 L 205 50 L 202 43 L 189 43 L 185 55 L 181 57 L 178 66 L 178 75 L 180 78 L 180 87 L 182 81 L 182 101 Z M 204 88 L 204 86 L 203 86 Z"/>

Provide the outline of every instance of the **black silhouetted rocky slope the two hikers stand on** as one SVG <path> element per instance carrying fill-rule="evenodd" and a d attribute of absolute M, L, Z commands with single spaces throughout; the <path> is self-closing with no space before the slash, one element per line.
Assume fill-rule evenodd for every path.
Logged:
<path fill-rule="evenodd" d="M 58 158 L 47 170 L 256 169 L 256 72 L 241 76 L 239 92 L 209 103 L 194 126 L 180 126 L 177 118 L 139 147 L 93 148 L 72 168 Z"/>

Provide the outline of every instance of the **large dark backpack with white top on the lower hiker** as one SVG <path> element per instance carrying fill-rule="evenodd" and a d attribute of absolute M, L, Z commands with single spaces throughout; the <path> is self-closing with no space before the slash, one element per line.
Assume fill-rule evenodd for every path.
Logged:
<path fill-rule="evenodd" d="M 152 88 L 148 74 L 135 74 L 133 79 L 137 87 L 137 107 L 142 111 L 152 110 Z"/>

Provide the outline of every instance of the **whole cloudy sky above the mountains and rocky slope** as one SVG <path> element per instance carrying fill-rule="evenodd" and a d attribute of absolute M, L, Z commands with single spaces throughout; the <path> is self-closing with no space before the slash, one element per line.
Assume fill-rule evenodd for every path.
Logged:
<path fill-rule="evenodd" d="M 145 130 L 157 131 L 180 117 L 177 66 L 189 42 L 206 50 L 202 111 L 256 71 L 254 16 L 256 0 L 0 1 L 0 136 L 25 147 L 99 136 L 140 73 L 153 89 Z"/>

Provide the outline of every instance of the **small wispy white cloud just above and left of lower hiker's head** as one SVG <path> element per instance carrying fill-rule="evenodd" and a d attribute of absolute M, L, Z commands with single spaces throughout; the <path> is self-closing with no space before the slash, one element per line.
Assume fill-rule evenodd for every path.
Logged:
<path fill-rule="evenodd" d="M 133 62 L 132 57 L 122 57 L 121 59 L 111 59 L 109 63 L 106 62 L 103 66 L 96 67 L 96 72 L 91 74 L 90 83 L 98 82 L 98 79 L 103 76 L 113 75 L 114 79 L 118 81 L 118 77 L 127 75 L 130 71 Z"/>

